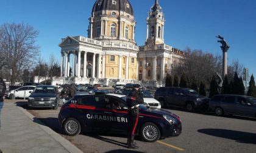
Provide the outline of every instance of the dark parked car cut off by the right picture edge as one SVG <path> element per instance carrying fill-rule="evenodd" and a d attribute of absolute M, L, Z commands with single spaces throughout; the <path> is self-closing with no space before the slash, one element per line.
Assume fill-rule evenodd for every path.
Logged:
<path fill-rule="evenodd" d="M 218 116 L 224 114 L 256 117 L 256 98 L 246 95 L 215 95 L 209 101 L 209 109 Z"/>

